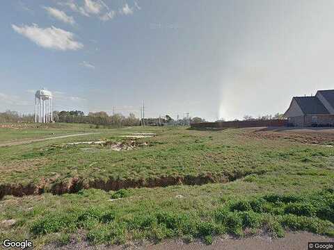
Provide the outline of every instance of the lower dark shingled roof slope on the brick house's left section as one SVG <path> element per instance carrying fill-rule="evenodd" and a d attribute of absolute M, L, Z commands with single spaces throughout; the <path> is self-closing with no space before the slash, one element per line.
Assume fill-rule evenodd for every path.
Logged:
<path fill-rule="evenodd" d="M 304 115 L 329 114 L 327 108 L 317 97 L 294 97 L 294 100 L 296 100 Z"/>

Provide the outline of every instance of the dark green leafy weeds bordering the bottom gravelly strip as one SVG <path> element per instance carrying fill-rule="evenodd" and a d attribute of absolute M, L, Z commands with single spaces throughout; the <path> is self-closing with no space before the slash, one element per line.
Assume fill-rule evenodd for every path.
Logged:
<path fill-rule="evenodd" d="M 65 215 L 51 213 L 36 220 L 31 226 L 31 233 L 35 237 L 57 232 L 67 235 L 81 228 L 88 232 L 87 240 L 93 244 L 117 244 L 135 238 L 157 242 L 175 237 L 187 242 L 200 238 L 211 244 L 215 235 L 231 233 L 243 236 L 246 229 L 262 229 L 274 237 L 283 237 L 285 229 L 333 236 L 333 199 L 333 190 L 304 196 L 267 194 L 252 199 L 231 199 L 224 201 L 206 217 L 198 213 L 166 210 L 156 213 L 138 210 L 127 214 L 97 206 L 70 211 Z M 319 200 L 324 206 L 315 202 Z M 312 206 L 312 203 L 317 203 L 317 206 Z"/>

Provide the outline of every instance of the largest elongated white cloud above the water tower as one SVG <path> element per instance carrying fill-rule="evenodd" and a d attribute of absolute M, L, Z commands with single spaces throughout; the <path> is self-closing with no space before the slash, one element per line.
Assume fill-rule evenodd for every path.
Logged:
<path fill-rule="evenodd" d="M 14 31 L 24 35 L 40 47 L 57 50 L 77 50 L 84 47 L 84 44 L 74 40 L 74 34 L 64 31 L 61 28 L 51 26 L 50 28 L 40 28 L 37 24 L 32 26 L 16 26 L 12 24 Z"/>

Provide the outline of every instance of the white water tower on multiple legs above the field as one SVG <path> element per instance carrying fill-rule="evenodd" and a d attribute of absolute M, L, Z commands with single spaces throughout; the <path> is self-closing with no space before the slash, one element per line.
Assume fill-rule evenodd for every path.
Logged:
<path fill-rule="evenodd" d="M 52 121 L 52 93 L 42 88 L 35 93 L 35 122 L 49 123 Z"/>

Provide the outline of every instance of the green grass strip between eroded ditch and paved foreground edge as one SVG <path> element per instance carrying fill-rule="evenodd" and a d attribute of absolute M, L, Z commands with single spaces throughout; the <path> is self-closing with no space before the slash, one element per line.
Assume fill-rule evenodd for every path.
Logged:
<path fill-rule="evenodd" d="M 0 238 L 29 238 L 41 246 L 64 242 L 78 231 L 84 232 L 81 240 L 90 244 L 143 238 L 152 242 L 200 238 L 210 244 L 215 235 L 225 233 L 246 237 L 266 230 L 273 237 L 283 237 L 287 229 L 334 236 L 333 189 L 296 194 L 296 188 L 277 194 L 263 193 L 259 187 L 238 181 L 154 192 L 143 188 L 127 190 L 125 195 L 91 189 L 63 196 L 6 197 L 0 219 L 17 222 L 10 230 L 2 230 Z"/>

